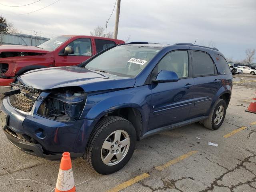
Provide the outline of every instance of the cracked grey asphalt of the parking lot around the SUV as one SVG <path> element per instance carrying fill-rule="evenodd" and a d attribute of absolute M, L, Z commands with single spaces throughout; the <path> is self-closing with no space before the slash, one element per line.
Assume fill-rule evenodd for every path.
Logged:
<path fill-rule="evenodd" d="M 256 84 L 256 83 L 255 83 Z M 101 192 L 140 174 L 149 177 L 122 192 L 255 192 L 256 114 L 245 112 L 256 86 L 234 84 L 232 99 L 220 129 L 208 130 L 199 123 L 156 134 L 137 142 L 130 162 L 119 172 L 103 176 L 92 171 L 82 158 L 72 160 L 77 192 Z M 224 138 L 242 126 L 247 128 Z M 198 139 L 200 138 L 200 139 Z M 208 142 L 218 144 L 208 145 Z M 156 169 L 190 151 L 198 151 L 162 171 Z M 10 144 L 0 130 L 0 191 L 51 192 L 60 162 L 24 154 Z M 34 181 L 31 181 L 34 180 Z M 39 183 L 40 182 L 40 183 Z M 44 185 L 46 184 L 46 185 Z"/>

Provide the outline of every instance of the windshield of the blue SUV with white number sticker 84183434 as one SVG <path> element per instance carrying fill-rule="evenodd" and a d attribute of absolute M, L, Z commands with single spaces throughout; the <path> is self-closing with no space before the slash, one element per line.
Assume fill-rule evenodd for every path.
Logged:
<path fill-rule="evenodd" d="M 119 76 L 138 75 L 160 48 L 143 46 L 116 46 L 86 64 L 85 68 Z"/>

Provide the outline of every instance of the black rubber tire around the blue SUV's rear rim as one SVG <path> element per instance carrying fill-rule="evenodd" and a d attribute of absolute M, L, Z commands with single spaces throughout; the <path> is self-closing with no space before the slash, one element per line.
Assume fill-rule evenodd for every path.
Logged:
<path fill-rule="evenodd" d="M 220 121 L 220 123 L 218 125 L 215 124 L 214 119 L 215 119 L 215 115 L 216 115 L 216 111 L 218 110 L 218 108 L 220 106 L 223 106 L 224 108 L 224 114 L 222 117 L 222 120 Z M 210 115 L 207 119 L 203 120 L 202 123 L 204 124 L 204 127 L 210 129 L 210 130 L 217 130 L 218 128 L 220 128 L 220 126 L 222 125 L 225 116 L 226 116 L 226 109 L 227 109 L 227 104 L 223 99 L 218 99 L 216 101 L 216 103 L 214 104 L 214 106 L 212 107 L 212 111 L 210 112 Z"/>

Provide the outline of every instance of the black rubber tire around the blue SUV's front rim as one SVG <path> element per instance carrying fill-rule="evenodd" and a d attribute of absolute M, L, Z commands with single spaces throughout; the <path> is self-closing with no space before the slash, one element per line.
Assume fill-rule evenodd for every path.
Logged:
<path fill-rule="evenodd" d="M 130 138 L 130 146 L 124 158 L 115 165 L 107 165 L 102 160 L 102 145 L 108 136 L 117 130 L 125 131 Z M 90 137 L 85 159 L 92 169 L 99 174 L 111 174 L 122 169 L 132 157 L 136 143 L 136 131 L 134 126 L 126 119 L 119 116 L 108 116 L 102 119 Z"/>

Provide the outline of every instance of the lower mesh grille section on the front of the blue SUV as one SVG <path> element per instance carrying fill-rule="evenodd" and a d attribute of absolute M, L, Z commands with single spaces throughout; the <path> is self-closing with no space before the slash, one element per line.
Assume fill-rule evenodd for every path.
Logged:
<path fill-rule="evenodd" d="M 34 101 L 23 98 L 19 94 L 11 95 L 9 99 L 12 106 L 24 112 L 30 112 L 34 105 Z"/>

